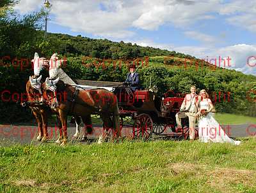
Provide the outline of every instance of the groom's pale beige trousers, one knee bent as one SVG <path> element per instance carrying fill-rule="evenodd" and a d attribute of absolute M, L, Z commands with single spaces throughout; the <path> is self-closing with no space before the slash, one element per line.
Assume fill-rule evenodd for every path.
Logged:
<path fill-rule="evenodd" d="M 196 125 L 195 114 L 196 113 L 180 111 L 179 113 L 177 113 L 175 115 L 178 128 L 182 127 L 181 126 L 181 118 L 188 117 L 188 119 L 189 119 L 189 139 L 195 139 L 195 125 Z"/>

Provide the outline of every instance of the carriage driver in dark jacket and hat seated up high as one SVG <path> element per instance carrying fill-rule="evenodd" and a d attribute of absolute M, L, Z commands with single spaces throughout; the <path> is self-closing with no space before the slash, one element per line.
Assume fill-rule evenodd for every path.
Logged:
<path fill-rule="evenodd" d="M 131 87 L 132 91 L 139 89 L 139 74 L 135 71 L 136 66 L 134 64 L 131 64 L 129 66 L 129 73 L 127 74 L 127 78 L 125 80 L 125 84 L 129 85 Z"/>

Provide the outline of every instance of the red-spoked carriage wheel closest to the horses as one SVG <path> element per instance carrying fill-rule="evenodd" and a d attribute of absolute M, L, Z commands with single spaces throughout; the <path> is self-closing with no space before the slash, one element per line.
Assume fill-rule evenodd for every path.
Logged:
<path fill-rule="evenodd" d="M 140 114 L 132 127 L 133 138 L 141 138 L 147 140 L 152 135 L 153 122 L 149 115 Z"/>

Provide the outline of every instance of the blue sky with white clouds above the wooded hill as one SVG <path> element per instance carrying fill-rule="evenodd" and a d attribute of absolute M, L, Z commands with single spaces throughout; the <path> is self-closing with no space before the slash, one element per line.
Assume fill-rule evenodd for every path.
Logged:
<path fill-rule="evenodd" d="M 256 75 L 256 1 L 49 0 L 49 32 L 106 38 L 175 50 L 204 59 L 232 59 L 232 69 Z M 21 14 L 44 0 L 20 0 Z M 251 66 L 246 65 L 250 56 Z"/>

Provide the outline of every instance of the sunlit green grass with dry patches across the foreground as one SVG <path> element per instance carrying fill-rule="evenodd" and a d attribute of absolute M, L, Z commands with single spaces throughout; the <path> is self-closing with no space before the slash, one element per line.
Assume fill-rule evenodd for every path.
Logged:
<path fill-rule="evenodd" d="M 256 192 L 255 156 L 255 138 L 12 145 L 0 147 L 0 192 Z"/>

